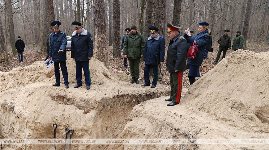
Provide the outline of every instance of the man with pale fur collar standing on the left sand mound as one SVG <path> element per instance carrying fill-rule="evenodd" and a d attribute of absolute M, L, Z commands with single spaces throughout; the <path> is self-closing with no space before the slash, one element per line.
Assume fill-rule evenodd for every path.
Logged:
<path fill-rule="evenodd" d="M 76 80 L 77 85 L 74 88 L 82 86 L 82 69 L 85 77 L 86 89 L 91 87 L 91 76 L 89 69 L 89 60 L 93 54 L 93 41 L 90 32 L 82 28 L 82 23 L 72 22 L 75 30 L 72 33 L 71 40 L 71 57 L 76 61 Z"/>

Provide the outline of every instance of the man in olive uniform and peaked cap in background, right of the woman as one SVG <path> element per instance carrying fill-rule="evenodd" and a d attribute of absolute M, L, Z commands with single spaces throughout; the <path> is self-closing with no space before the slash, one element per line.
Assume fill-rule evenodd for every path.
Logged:
<path fill-rule="evenodd" d="M 218 40 L 218 44 L 220 44 L 220 46 L 219 46 L 219 51 L 216 57 L 215 64 L 218 63 L 221 52 L 222 52 L 222 59 L 223 59 L 225 58 L 226 51 L 231 48 L 231 37 L 228 35 L 229 32 L 230 30 L 228 29 L 224 30 L 224 35 L 221 35 Z"/>

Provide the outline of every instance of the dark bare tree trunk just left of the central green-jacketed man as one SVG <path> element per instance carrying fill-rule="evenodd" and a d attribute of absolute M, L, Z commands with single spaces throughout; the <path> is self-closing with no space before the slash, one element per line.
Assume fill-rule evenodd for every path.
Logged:
<path fill-rule="evenodd" d="M 109 17 L 110 18 L 110 17 Z M 113 0 L 113 57 L 121 57 L 120 0 Z"/>

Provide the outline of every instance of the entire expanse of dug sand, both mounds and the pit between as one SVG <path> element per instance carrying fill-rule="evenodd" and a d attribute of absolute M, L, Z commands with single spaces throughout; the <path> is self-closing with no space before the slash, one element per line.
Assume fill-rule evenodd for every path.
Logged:
<path fill-rule="evenodd" d="M 70 88 L 53 87 L 53 68 L 44 62 L 0 73 L 1 138 L 268 139 L 269 52 L 233 52 L 193 85 L 180 104 L 167 107 L 169 87 L 142 88 L 125 73 L 90 60 L 92 86 L 75 86 L 75 62 L 67 60 Z M 70 55 L 68 53 L 68 55 Z M 68 56 L 70 57 L 70 56 Z M 21 71 L 21 72 L 19 72 Z M 4 145 L 49 149 L 53 145 Z M 69 148 L 69 147 L 68 147 Z M 57 145 L 63 149 L 63 145 Z M 268 145 L 72 145 L 72 149 L 261 150 Z"/>

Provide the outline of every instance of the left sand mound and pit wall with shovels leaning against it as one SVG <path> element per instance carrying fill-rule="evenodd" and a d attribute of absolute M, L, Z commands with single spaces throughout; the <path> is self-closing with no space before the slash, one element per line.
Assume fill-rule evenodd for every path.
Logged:
<path fill-rule="evenodd" d="M 65 138 L 65 127 L 74 130 L 72 138 L 117 138 L 135 105 L 167 95 L 170 90 L 161 84 L 156 88 L 130 84 L 125 73 L 113 73 L 95 58 L 90 60 L 91 89 L 86 90 L 85 84 L 74 89 L 75 61 L 70 53 L 67 58 L 69 89 L 65 89 L 62 75 L 61 86 L 51 86 L 55 83 L 54 68 L 47 68 L 44 62 L 0 72 L 0 138 L 53 138 L 52 123 L 58 124 L 56 138 Z M 52 145 L 8 147 L 54 149 Z M 108 145 L 74 145 L 72 149 L 100 147 Z"/>

